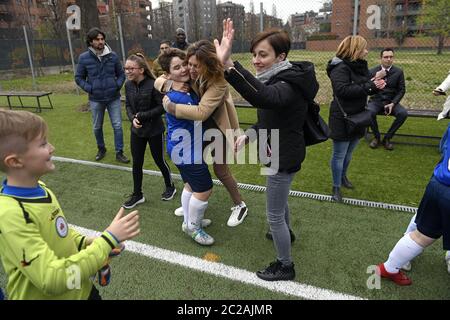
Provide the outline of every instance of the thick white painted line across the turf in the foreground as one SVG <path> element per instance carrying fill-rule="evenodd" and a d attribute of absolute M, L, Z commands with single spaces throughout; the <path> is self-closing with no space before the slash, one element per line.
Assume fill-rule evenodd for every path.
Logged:
<path fill-rule="evenodd" d="M 71 225 L 72 228 L 85 236 L 99 236 L 100 232 Z M 210 262 L 197 257 L 188 256 L 179 252 L 161 249 L 148 244 L 135 241 L 126 241 L 126 250 L 139 255 L 161 260 L 163 262 L 180 265 L 185 268 L 212 274 L 245 284 L 254 285 L 270 291 L 275 291 L 302 299 L 309 300 L 363 300 L 361 297 L 351 296 L 327 289 L 321 289 L 295 281 L 264 281 L 259 279 L 254 272 L 227 266 L 218 262 Z"/>

